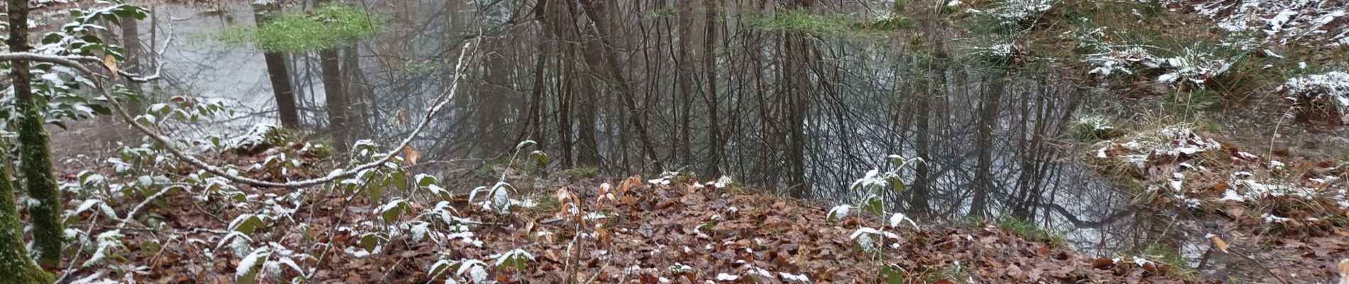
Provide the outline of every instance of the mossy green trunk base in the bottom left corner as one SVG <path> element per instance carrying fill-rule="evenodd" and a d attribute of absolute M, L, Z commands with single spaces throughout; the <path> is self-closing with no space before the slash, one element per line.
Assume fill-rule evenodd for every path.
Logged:
<path fill-rule="evenodd" d="M 9 176 L 8 148 L 0 139 L 0 284 L 49 284 L 55 280 L 32 261 L 23 245 L 23 225 L 19 222 L 19 207 Z"/>

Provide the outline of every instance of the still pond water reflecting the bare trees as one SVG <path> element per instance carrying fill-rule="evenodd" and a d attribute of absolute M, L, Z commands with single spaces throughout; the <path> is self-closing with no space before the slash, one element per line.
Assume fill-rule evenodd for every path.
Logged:
<path fill-rule="evenodd" d="M 422 160 L 491 159 L 534 140 L 557 168 L 727 175 L 828 206 L 857 201 L 849 184 L 901 155 L 927 163 L 898 170 L 908 187 L 888 195 L 889 206 L 920 222 L 1010 215 L 1097 254 L 1203 240 L 1171 229 L 1171 214 L 1130 207 L 1130 195 L 1064 137 L 1074 117 L 1118 109 L 1109 92 L 901 47 L 913 31 L 854 35 L 764 20 L 789 15 L 773 12 L 793 5 L 777 1 L 549 3 L 363 3 L 387 23 L 336 48 L 356 112 L 349 122 L 328 125 L 318 54 L 286 57 L 301 127 L 393 143 L 453 83 L 453 62 L 472 42 L 457 97 L 413 144 Z M 873 19 L 886 5 L 797 8 Z M 204 129 L 278 124 L 262 51 L 217 40 L 254 26 L 248 3 L 152 7 L 138 38 L 154 50 L 170 44 L 147 55 L 165 63 L 166 78 L 147 89 L 229 101 L 237 116 Z M 965 44 L 921 28 L 940 35 L 938 50 Z"/>

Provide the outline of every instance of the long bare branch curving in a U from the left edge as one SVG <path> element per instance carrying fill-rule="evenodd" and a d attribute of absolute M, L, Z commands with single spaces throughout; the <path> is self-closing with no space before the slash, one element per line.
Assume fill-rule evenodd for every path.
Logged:
<path fill-rule="evenodd" d="M 464 74 L 464 69 L 465 69 L 464 59 L 468 58 L 468 52 L 469 52 L 469 47 L 471 46 L 472 44 L 465 43 L 464 48 L 459 54 L 459 62 L 455 66 L 455 78 L 453 78 L 455 82 L 449 87 L 447 87 L 444 92 L 441 92 L 440 96 L 436 97 L 436 100 L 434 100 L 436 104 L 426 112 L 426 116 L 422 117 L 422 121 L 420 124 L 417 124 L 417 128 L 414 128 L 413 132 L 409 133 L 407 137 L 405 137 L 402 140 L 402 143 L 399 143 L 397 147 L 394 147 L 393 149 L 390 149 L 389 152 L 386 152 L 384 157 L 382 157 L 379 160 L 375 160 L 375 162 L 359 164 L 359 166 L 352 167 L 352 168 L 336 170 L 336 171 L 332 171 L 331 174 L 328 174 L 326 176 L 322 176 L 322 178 L 305 179 L 305 180 L 291 180 L 291 182 L 285 182 L 285 183 L 259 180 L 259 179 L 252 179 L 252 178 L 247 178 L 247 176 L 240 176 L 240 175 L 229 174 L 229 172 L 227 172 L 227 171 L 224 171 L 224 170 L 221 170 L 221 168 L 219 168 L 216 166 L 208 164 L 206 162 L 202 162 L 201 159 L 197 159 L 196 156 L 185 153 L 182 149 L 179 149 L 178 147 L 175 147 L 170 141 L 169 137 L 165 137 L 163 135 L 159 135 L 154 129 L 150 129 L 148 127 L 136 122 L 135 117 L 131 116 L 131 113 L 128 113 L 127 109 L 121 106 L 121 102 L 119 102 L 117 98 L 115 96 L 112 96 L 112 92 L 109 92 L 108 87 L 104 86 L 103 79 L 100 77 L 97 77 L 92 70 L 89 70 L 85 65 L 81 63 L 81 62 L 101 63 L 103 61 L 98 59 L 98 58 L 93 58 L 93 57 L 57 57 L 57 55 L 43 55 L 43 54 L 32 54 L 32 52 L 0 52 L 0 61 L 5 61 L 5 62 L 9 62 L 9 61 L 34 61 L 34 62 L 47 62 L 47 63 L 54 63 L 54 65 L 69 66 L 69 67 L 80 71 L 81 74 L 84 74 L 85 77 L 88 77 L 90 81 L 94 82 L 94 87 L 98 89 L 98 92 L 103 94 L 103 97 L 105 100 L 108 100 L 108 104 L 112 105 L 112 109 L 121 117 L 123 121 L 125 121 L 127 124 L 131 124 L 132 128 L 135 128 L 136 131 L 140 131 L 146 136 L 150 136 L 150 139 L 152 139 L 156 143 L 162 144 L 165 147 L 165 149 L 169 151 L 169 153 L 173 153 L 175 157 L 188 162 L 188 164 L 192 164 L 193 167 L 201 168 L 201 170 L 204 170 L 206 172 L 214 174 L 217 176 L 229 179 L 231 182 L 247 183 L 247 184 L 263 186 L 263 187 L 298 188 L 298 187 L 318 186 L 318 184 L 333 182 L 333 180 L 337 180 L 337 179 L 341 179 L 341 178 L 347 178 L 347 176 L 355 175 L 355 174 L 360 172 L 360 171 L 366 171 L 366 170 L 370 170 L 370 168 L 379 167 L 379 166 L 382 166 L 384 163 L 389 163 L 395 156 L 398 156 L 399 152 L 402 152 L 403 149 L 407 148 L 407 145 L 413 141 L 413 139 L 415 139 L 418 135 L 421 135 L 421 132 L 424 129 L 426 129 L 426 125 L 430 124 L 430 120 L 437 113 L 440 113 L 440 110 L 444 109 L 445 105 L 449 104 L 449 100 L 455 97 L 455 93 L 459 89 L 459 83 L 461 82 L 461 77 Z"/>

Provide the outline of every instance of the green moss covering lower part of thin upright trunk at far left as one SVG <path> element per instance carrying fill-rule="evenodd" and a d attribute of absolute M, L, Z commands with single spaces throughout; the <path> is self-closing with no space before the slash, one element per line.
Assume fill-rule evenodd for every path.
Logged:
<path fill-rule="evenodd" d="M 51 137 L 42 125 L 42 113 L 36 102 L 19 100 L 16 104 L 23 113 L 19 118 L 20 170 L 28 197 L 38 201 L 28 209 L 32 219 L 32 249 L 38 253 L 38 261 L 55 267 L 61 264 L 65 225 L 61 219 L 63 214 L 61 188 L 51 168 Z"/>

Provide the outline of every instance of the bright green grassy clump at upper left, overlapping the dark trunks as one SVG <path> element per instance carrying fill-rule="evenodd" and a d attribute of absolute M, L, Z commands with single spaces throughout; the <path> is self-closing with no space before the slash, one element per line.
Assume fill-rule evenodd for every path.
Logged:
<path fill-rule="evenodd" d="M 340 47 L 383 30 L 378 15 L 344 4 L 324 4 L 308 13 L 286 12 L 260 28 L 228 28 L 220 40 L 228 44 L 252 43 L 279 52 L 306 52 Z"/>

